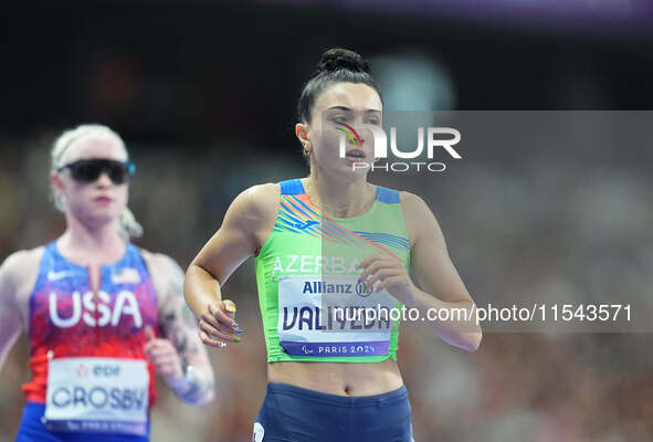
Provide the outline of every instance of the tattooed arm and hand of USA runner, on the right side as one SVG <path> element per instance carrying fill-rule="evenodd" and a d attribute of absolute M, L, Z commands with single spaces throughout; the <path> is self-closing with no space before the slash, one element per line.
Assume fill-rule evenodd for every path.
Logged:
<path fill-rule="evenodd" d="M 157 339 L 152 330 L 148 332 L 145 352 L 181 400 L 203 407 L 213 400 L 214 375 L 198 337 L 194 317 L 183 302 L 183 271 L 169 256 L 149 254 L 148 257 L 152 281 L 158 285 L 162 338 Z"/>

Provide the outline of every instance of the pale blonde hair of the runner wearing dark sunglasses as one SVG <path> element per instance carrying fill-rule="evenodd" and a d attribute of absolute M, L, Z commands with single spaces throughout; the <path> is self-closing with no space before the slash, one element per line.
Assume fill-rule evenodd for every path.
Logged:
<path fill-rule="evenodd" d="M 52 152 L 51 152 L 52 161 L 51 161 L 50 170 L 57 171 L 59 169 L 64 167 L 66 165 L 65 157 L 66 157 L 66 152 L 69 151 L 69 148 L 73 144 L 75 144 L 75 141 L 78 141 L 80 139 L 88 137 L 88 136 L 101 136 L 101 137 L 113 138 L 116 141 L 118 141 L 120 144 L 120 146 L 123 147 L 123 149 L 125 149 L 125 151 L 127 152 L 127 147 L 125 146 L 123 138 L 120 138 L 120 136 L 118 134 L 116 134 L 115 131 L 109 129 L 107 126 L 99 125 L 99 124 L 84 124 L 84 125 L 80 125 L 80 126 L 75 127 L 74 129 L 64 130 L 64 133 L 61 134 L 59 136 L 59 138 L 56 138 L 56 140 L 54 141 L 54 145 L 52 146 Z M 127 155 L 128 155 L 128 152 L 127 152 Z M 62 212 L 65 212 L 66 211 L 66 201 L 65 201 L 64 196 L 61 194 L 61 192 L 59 190 L 56 190 L 56 188 L 52 185 L 51 185 L 51 189 L 52 189 L 52 199 L 54 201 L 54 207 L 56 209 L 61 210 Z M 125 208 L 125 210 L 123 210 L 123 212 L 120 213 L 120 219 L 119 219 L 118 224 L 119 224 L 119 233 L 125 240 L 129 240 L 129 238 L 131 238 L 131 236 L 143 235 L 143 227 L 140 225 L 140 223 L 138 221 L 136 221 L 134 213 L 131 213 L 131 210 L 129 210 L 128 208 Z"/>

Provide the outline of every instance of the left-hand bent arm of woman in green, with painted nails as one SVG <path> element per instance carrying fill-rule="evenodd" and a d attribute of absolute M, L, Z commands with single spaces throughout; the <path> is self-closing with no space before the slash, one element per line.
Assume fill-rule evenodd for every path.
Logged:
<path fill-rule="evenodd" d="M 221 286 L 249 256 L 259 252 L 272 231 L 278 210 L 278 185 L 254 186 L 229 207 L 222 225 L 202 248 L 186 272 L 186 302 L 200 319 L 200 337 L 207 345 L 225 347 L 239 341 L 235 304 L 223 299 Z"/>

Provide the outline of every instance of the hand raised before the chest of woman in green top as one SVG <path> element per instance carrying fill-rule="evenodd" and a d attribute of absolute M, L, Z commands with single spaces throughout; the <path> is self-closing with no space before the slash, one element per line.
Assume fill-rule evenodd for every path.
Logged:
<path fill-rule="evenodd" d="M 367 283 L 368 287 L 373 287 L 378 283 L 375 292 L 386 288 L 397 299 L 402 301 L 414 288 L 403 263 L 394 257 L 373 254 L 362 260 L 359 267 L 362 269 L 360 281 Z"/>

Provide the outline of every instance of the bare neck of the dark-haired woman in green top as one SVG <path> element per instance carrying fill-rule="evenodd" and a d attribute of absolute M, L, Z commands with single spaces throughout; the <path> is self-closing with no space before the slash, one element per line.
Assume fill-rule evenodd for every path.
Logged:
<path fill-rule="evenodd" d="M 375 186 L 362 177 L 356 181 L 327 180 L 312 173 L 303 179 L 310 201 L 329 217 L 351 218 L 364 214 L 375 202 Z"/>

